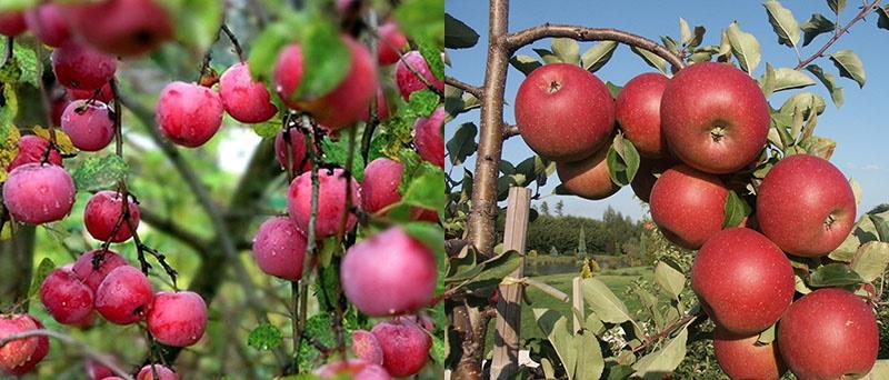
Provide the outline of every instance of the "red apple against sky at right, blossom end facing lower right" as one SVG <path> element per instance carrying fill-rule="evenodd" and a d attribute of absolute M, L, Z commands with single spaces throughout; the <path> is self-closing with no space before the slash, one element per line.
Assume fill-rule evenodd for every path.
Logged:
<path fill-rule="evenodd" d="M 793 256 L 830 253 L 849 236 L 856 218 L 852 188 L 829 161 L 796 154 L 771 168 L 757 196 L 759 227 Z"/>

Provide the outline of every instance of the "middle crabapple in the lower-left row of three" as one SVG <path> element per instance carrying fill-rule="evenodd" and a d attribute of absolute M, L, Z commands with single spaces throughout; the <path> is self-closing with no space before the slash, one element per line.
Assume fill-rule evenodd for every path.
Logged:
<path fill-rule="evenodd" d="M 118 267 L 96 291 L 96 310 L 117 324 L 136 323 L 144 317 L 154 294 L 148 278 L 136 267 Z"/>

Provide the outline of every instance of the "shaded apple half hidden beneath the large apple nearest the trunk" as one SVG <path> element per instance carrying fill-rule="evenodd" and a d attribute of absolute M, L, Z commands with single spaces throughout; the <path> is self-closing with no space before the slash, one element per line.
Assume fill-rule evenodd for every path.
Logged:
<path fill-rule="evenodd" d="M 557 162 L 556 172 L 562 187 L 572 194 L 586 199 L 605 199 L 620 190 L 611 181 L 606 162 L 608 148 L 602 147 L 592 156 L 575 162 Z"/>

